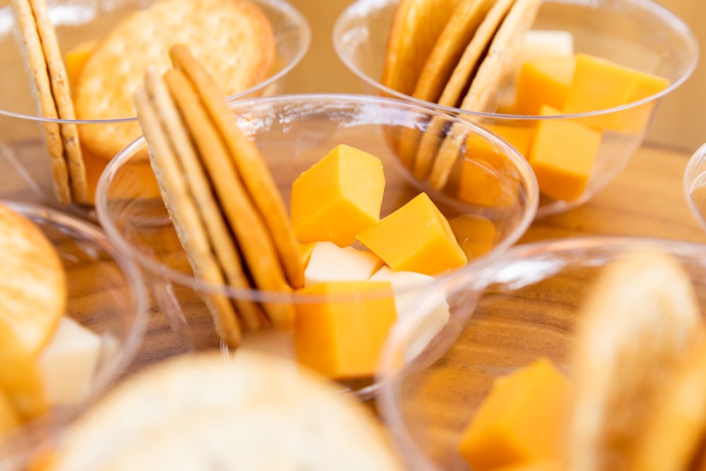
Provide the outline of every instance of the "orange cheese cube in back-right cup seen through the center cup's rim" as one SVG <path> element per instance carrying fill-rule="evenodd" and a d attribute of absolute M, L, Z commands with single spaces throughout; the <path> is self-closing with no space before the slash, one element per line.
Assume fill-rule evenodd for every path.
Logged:
<path fill-rule="evenodd" d="M 534 129 L 530 126 L 486 124 L 486 128 L 504 138 L 522 155 L 527 155 Z M 508 157 L 477 134 L 466 141 L 466 155 L 461 163 L 457 198 L 473 205 L 505 208 L 513 203 L 519 181 L 512 172 Z"/>

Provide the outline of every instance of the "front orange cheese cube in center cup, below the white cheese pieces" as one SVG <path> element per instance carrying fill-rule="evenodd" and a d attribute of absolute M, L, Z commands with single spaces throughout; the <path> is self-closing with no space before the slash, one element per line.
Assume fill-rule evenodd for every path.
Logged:
<path fill-rule="evenodd" d="M 330 378 L 373 376 L 397 321 L 390 282 L 321 282 L 297 293 L 321 298 L 296 304 L 298 361 Z"/>

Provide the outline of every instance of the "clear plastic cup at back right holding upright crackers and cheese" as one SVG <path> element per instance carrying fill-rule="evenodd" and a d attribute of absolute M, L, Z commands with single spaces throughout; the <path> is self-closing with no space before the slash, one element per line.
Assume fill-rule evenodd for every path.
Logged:
<path fill-rule="evenodd" d="M 585 52 L 662 76 L 670 81 L 662 92 L 621 107 L 552 117 L 467 112 L 417 100 L 381 84 L 385 45 L 397 0 L 357 0 L 337 18 L 333 43 L 340 60 L 360 78 L 366 93 L 398 97 L 459 114 L 481 124 L 534 126 L 544 119 L 569 120 L 602 116 L 626 126 L 606 130 L 587 187 L 576 198 L 542 195 L 538 216 L 561 213 L 590 200 L 626 166 L 642 144 L 657 105 L 678 88 L 698 63 L 698 42 L 683 21 L 651 0 L 542 0 L 532 29 L 565 30 L 575 52 Z M 573 151 L 572 151 L 573 152 Z M 542 179 L 539 181 L 542 191 Z"/>

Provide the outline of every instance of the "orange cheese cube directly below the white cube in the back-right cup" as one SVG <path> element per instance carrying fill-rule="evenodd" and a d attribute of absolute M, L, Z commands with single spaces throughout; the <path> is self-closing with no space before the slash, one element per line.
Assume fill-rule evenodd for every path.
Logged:
<path fill-rule="evenodd" d="M 534 59 L 522 64 L 515 87 L 515 109 L 538 114 L 542 105 L 563 109 L 573 80 L 575 56 Z"/>

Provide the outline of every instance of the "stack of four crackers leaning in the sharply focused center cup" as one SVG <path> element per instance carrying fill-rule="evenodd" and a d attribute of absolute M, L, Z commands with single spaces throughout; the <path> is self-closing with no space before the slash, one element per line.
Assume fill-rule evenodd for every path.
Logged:
<path fill-rule="evenodd" d="M 234 347 L 241 328 L 292 327 L 291 302 L 256 302 L 244 290 L 266 296 L 301 287 L 299 244 L 263 157 L 237 128 L 213 77 L 184 45 L 169 56 L 173 68 L 148 68 L 134 94 L 138 121 L 196 278 L 234 290 L 201 290 L 217 333 Z"/>

